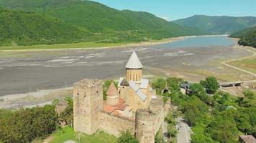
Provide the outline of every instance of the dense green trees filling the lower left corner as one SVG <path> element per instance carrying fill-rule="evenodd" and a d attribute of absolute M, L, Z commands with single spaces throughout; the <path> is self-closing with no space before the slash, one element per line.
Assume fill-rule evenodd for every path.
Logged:
<path fill-rule="evenodd" d="M 32 142 L 47 137 L 57 128 L 57 114 L 53 105 L 19 109 L 0 110 L 1 142 Z"/>

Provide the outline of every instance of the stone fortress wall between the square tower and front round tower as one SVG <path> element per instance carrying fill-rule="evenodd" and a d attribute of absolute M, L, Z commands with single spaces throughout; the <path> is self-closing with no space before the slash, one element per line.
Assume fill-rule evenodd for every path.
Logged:
<path fill-rule="evenodd" d="M 118 117 L 107 112 L 101 111 L 99 122 L 101 123 L 101 130 L 109 134 L 114 134 L 116 137 L 119 137 L 120 131 L 126 131 L 128 129 L 132 134 L 135 131 L 134 119 Z"/>

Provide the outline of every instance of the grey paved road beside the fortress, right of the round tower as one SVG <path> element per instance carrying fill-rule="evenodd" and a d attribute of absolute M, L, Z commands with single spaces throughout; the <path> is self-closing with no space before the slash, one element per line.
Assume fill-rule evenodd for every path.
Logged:
<path fill-rule="evenodd" d="M 191 128 L 184 122 L 184 119 L 177 118 L 176 129 L 178 131 L 177 142 L 178 143 L 189 143 L 191 142 Z"/>

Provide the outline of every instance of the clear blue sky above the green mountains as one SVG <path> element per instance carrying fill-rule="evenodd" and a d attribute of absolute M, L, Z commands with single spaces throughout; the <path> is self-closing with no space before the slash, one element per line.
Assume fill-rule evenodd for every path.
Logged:
<path fill-rule="evenodd" d="M 172 21 L 193 15 L 256 16 L 256 0 L 93 0 L 114 9 L 147 11 Z"/>

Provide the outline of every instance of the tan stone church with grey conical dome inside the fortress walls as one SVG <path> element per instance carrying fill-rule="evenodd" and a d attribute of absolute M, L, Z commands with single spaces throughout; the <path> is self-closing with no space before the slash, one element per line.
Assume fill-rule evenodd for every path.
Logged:
<path fill-rule="evenodd" d="M 149 79 L 142 79 L 142 64 L 135 51 L 125 68 L 126 77 L 120 77 L 118 89 L 111 83 L 106 92 L 104 109 L 106 112 L 132 117 L 137 109 L 146 109 L 152 98 Z M 155 96 L 153 96 L 155 97 Z"/>

